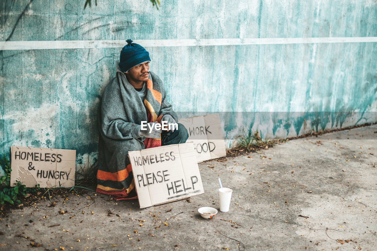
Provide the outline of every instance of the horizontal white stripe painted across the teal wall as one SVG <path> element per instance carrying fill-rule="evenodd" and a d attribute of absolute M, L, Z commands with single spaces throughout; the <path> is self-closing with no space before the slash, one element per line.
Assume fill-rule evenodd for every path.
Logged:
<path fill-rule="evenodd" d="M 315 37 L 315 38 L 216 38 L 134 40 L 144 47 L 219 46 L 249 44 L 312 44 L 312 43 L 370 43 L 377 37 Z M 0 50 L 89 49 L 121 48 L 126 40 L 71 40 L 71 41 L 0 41 Z"/>

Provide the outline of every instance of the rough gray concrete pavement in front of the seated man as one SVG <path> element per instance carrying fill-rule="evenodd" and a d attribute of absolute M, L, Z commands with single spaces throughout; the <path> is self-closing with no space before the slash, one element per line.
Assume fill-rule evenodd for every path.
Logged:
<path fill-rule="evenodd" d="M 376 139 L 374 125 L 199 163 L 205 193 L 190 202 L 42 199 L 0 220 L 0 250 L 377 250 Z M 219 177 L 230 211 L 202 219 L 199 207 L 218 208 Z"/>

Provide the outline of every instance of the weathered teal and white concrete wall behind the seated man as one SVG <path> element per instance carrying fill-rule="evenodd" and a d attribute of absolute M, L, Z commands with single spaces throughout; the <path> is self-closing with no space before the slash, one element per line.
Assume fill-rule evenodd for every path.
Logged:
<path fill-rule="evenodd" d="M 149 0 L 84 2 L 3 0 L 0 41 L 377 37 L 375 0 L 164 0 L 159 11 Z M 0 152 L 76 149 L 77 168 L 92 165 L 100 95 L 121 47 L 40 44 L 0 51 Z M 375 42 L 147 49 L 175 110 L 220 112 L 228 140 L 242 128 L 285 138 L 377 121 Z"/>

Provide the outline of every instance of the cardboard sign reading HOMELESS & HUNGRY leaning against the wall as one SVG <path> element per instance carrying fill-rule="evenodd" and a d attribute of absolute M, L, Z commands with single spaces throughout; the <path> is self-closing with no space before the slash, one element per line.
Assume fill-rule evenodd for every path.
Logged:
<path fill-rule="evenodd" d="M 12 186 L 73 187 L 76 150 L 12 146 L 11 169 Z"/>

